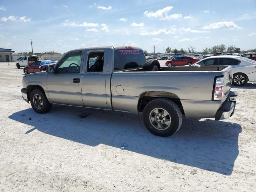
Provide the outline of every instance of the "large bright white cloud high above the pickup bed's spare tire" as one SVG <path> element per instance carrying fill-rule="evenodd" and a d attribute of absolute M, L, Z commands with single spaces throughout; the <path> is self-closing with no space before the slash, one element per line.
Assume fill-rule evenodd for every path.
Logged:
<path fill-rule="evenodd" d="M 182 14 L 172 14 L 168 15 L 168 12 L 172 9 L 172 6 L 165 7 L 163 9 L 159 9 L 156 12 L 152 11 L 145 11 L 144 15 L 150 18 L 158 18 L 160 20 L 171 20 L 171 19 L 178 19 L 182 17 Z"/>

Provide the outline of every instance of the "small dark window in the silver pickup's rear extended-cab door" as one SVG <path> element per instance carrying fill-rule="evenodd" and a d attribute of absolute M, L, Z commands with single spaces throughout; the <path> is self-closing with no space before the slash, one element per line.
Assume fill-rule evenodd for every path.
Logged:
<path fill-rule="evenodd" d="M 92 52 L 88 55 L 87 72 L 102 72 L 104 65 L 104 52 Z"/>

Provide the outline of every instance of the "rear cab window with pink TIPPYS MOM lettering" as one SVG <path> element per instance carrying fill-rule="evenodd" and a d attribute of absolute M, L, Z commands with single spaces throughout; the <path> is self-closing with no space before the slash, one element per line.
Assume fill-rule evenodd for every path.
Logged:
<path fill-rule="evenodd" d="M 114 71 L 143 67 L 146 62 L 142 50 L 116 49 L 114 54 Z"/>

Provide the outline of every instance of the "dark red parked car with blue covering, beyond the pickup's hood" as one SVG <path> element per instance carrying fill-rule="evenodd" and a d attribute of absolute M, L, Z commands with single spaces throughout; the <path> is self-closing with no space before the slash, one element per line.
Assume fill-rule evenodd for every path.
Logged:
<path fill-rule="evenodd" d="M 50 60 L 34 61 L 32 64 L 25 66 L 23 68 L 23 71 L 25 74 L 36 73 L 40 71 L 45 71 L 48 66 L 55 65 L 55 64 L 56 64 L 55 61 L 50 61 Z"/>

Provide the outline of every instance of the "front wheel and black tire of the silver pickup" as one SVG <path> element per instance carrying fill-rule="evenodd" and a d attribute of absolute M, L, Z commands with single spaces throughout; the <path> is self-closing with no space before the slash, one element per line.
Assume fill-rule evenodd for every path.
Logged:
<path fill-rule="evenodd" d="M 39 99 L 39 98 L 41 98 L 41 99 Z M 34 100 L 36 100 L 36 101 L 34 101 Z M 38 103 L 37 103 L 38 100 L 40 100 L 42 102 L 41 108 L 38 107 Z M 52 108 L 52 104 L 48 101 L 44 92 L 42 92 L 39 89 L 34 89 L 30 93 L 30 104 L 31 104 L 32 108 L 34 109 L 34 111 L 37 113 L 40 113 L 40 114 L 47 113 Z"/>

